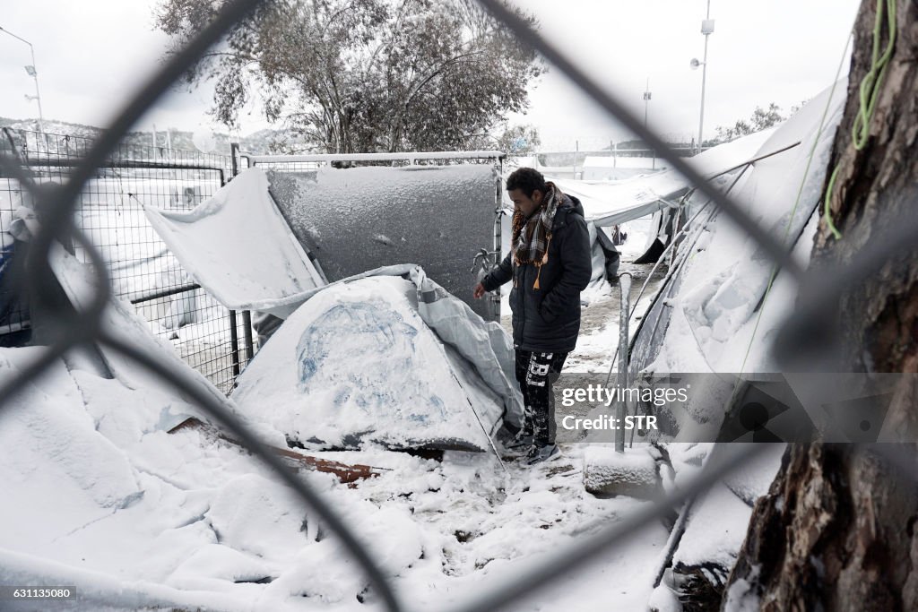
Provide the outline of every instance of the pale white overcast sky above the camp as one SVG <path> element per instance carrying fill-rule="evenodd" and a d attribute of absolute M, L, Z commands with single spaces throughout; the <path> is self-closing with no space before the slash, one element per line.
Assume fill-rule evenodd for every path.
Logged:
<path fill-rule="evenodd" d="M 697 136 L 707 0 L 517 0 L 556 43 L 660 132 Z M 167 43 L 153 29 L 154 0 L 7 0 L 0 27 L 35 47 L 44 116 L 103 126 Z M 859 0 L 711 0 L 704 134 L 775 102 L 785 111 L 828 87 L 842 60 Z M 850 51 L 849 51 L 850 52 Z M 23 66 L 28 45 L 0 32 L 0 117 L 38 115 L 34 82 Z M 843 72 L 847 70 L 847 59 Z M 139 127 L 214 126 L 204 112 L 212 92 L 169 95 Z M 608 146 L 628 135 L 550 67 L 533 83 L 532 106 L 513 122 L 539 128 L 543 149 Z M 250 114 L 251 113 L 251 114 Z M 267 127 L 252 106 L 241 133 Z"/>

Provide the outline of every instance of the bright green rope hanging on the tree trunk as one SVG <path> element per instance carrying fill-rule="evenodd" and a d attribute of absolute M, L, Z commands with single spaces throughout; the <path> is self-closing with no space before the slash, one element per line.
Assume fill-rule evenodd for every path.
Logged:
<path fill-rule="evenodd" d="M 892 50 L 896 44 L 896 0 L 885 0 L 886 10 L 883 10 L 884 0 L 877 0 L 877 18 L 873 24 L 873 52 L 870 58 L 870 70 L 864 75 L 858 87 L 860 106 L 857 108 L 854 126 L 851 128 L 851 141 L 855 150 L 863 150 L 867 146 L 867 140 L 870 135 L 870 119 L 877 107 L 877 96 L 879 95 L 879 85 L 883 82 L 883 76 L 886 74 L 886 68 L 890 64 Z M 890 31 L 890 39 L 886 43 L 886 49 L 883 53 L 879 52 L 879 40 L 882 36 L 883 13 L 886 13 L 887 29 Z M 825 225 L 832 232 L 834 239 L 840 239 L 842 233 L 835 227 L 832 219 L 832 193 L 835 187 L 835 179 L 838 176 L 839 166 L 836 165 L 829 178 L 828 187 L 825 190 L 825 200 L 823 203 L 823 220 Z"/>

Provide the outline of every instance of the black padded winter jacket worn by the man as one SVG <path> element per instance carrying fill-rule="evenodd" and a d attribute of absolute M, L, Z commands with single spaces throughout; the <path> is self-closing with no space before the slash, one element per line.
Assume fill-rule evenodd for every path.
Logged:
<path fill-rule="evenodd" d="M 511 250 L 481 284 L 494 291 L 513 280 L 509 302 L 515 348 L 572 351 L 580 331 L 580 292 L 587 288 L 592 275 L 589 230 L 576 197 L 565 195 L 554 213 L 548 261 L 539 274 L 538 289 L 533 287 L 537 274 L 538 268 L 530 263 L 514 265 Z"/>

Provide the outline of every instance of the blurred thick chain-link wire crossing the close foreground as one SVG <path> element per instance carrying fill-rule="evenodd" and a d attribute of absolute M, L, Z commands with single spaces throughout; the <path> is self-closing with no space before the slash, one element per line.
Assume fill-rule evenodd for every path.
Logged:
<path fill-rule="evenodd" d="M 581 72 L 573 61 L 567 59 L 560 51 L 548 44 L 538 33 L 524 23 L 518 16 L 509 11 L 498 0 L 479 0 L 480 4 L 498 19 L 498 22 L 509 28 L 521 41 L 532 46 L 558 69 L 565 72 L 584 91 L 591 95 L 600 106 L 616 117 L 622 125 L 629 128 L 633 134 L 644 139 L 652 149 L 657 151 L 659 157 L 666 159 L 672 167 L 681 172 L 693 183 L 701 193 L 711 198 L 716 206 L 733 218 L 733 220 L 753 238 L 781 268 L 794 276 L 803 279 L 804 273 L 800 266 L 789 258 L 788 249 L 781 245 L 777 239 L 770 236 L 767 231 L 760 228 L 748 217 L 729 195 L 723 194 L 710 182 L 705 180 L 698 172 L 691 168 L 676 151 L 669 150 L 666 143 L 655 133 L 644 128 L 636 117 L 628 112 L 621 102 L 610 93 L 599 87 L 597 83 Z M 119 285 L 117 277 L 112 276 L 109 270 L 111 262 L 106 260 L 106 249 L 97 248 L 89 234 L 74 223 L 74 217 L 80 210 L 80 194 L 86 185 L 102 169 L 106 161 L 117 150 L 118 142 L 124 137 L 128 129 L 152 106 L 174 83 L 185 70 L 209 47 L 218 42 L 235 23 L 246 17 L 260 3 L 252 0 L 236 0 L 224 6 L 214 21 L 202 30 L 196 39 L 191 40 L 184 50 L 174 55 L 167 61 L 160 72 L 143 86 L 130 101 L 123 112 L 116 117 L 110 127 L 95 142 L 84 143 L 84 150 L 73 156 L 76 165 L 61 172 L 57 177 L 59 181 L 42 181 L 40 176 L 31 172 L 31 167 L 24 165 L 6 152 L 0 153 L 0 169 L 4 175 L 15 179 L 24 188 L 24 197 L 28 197 L 41 215 L 41 226 L 38 235 L 30 244 L 28 261 L 26 263 L 27 282 L 29 293 L 34 296 L 35 304 L 53 313 L 59 325 L 56 333 L 50 339 L 50 345 L 43 351 L 39 358 L 28 364 L 15 379 L 6 382 L 0 388 L 0 409 L 9 406 L 12 399 L 25 387 L 43 373 L 53 362 L 64 353 L 84 343 L 102 343 L 113 350 L 122 353 L 129 359 L 155 373 L 175 389 L 193 398 L 196 405 L 208 417 L 212 418 L 219 426 L 225 428 L 231 435 L 240 440 L 252 454 L 268 465 L 285 484 L 287 484 L 308 508 L 314 512 L 325 526 L 334 533 L 343 543 L 346 551 L 359 564 L 368 578 L 375 593 L 381 598 L 386 609 L 398 611 L 404 609 L 401 600 L 386 579 L 378 562 L 370 554 L 364 543 L 357 540 L 353 531 L 347 527 L 338 513 L 333 510 L 322 495 L 314 491 L 307 483 L 300 479 L 295 472 L 285 466 L 281 460 L 268 451 L 261 440 L 248 428 L 241 425 L 234 417 L 227 402 L 216 395 L 202 391 L 200 387 L 192 384 L 185 372 L 176 371 L 153 355 L 137 350 L 121 340 L 110 335 L 100 325 L 101 314 L 110 296 L 118 294 Z M 65 143 L 65 146 L 70 146 Z M 69 151 L 68 151 L 69 153 Z M 837 304 L 834 295 L 837 295 L 845 283 L 862 280 L 868 274 L 879 268 L 890 254 L 896 250 L 913 248 L 913 236 L 916 219 L 903 220 L 901 230 L 889 241 L 874 244 L 870 247 L 868 257 L 864 258 L 855 270 L 842 271 L 829 274 L 823 278 L 821 286 L 826 287 L 822 299 L 814 301 L 811 305 L 801 308 L 794 315 L 790 324 L 782 330 L 780 347 L 784 351 L 793 352 L 802 342 L 812 338 L 813 329 L 823 329 L 823 321 L 830 317 Z M 84 254 L 84 260 L 92 265 L 96 276 L 97 289 L 91 304 L 82 312 L 73 313 L 62 307 L 53 287 L 56 280 L 50 270 L 49 253 L 55 240 L 65 244 L 73 244 L 77 250 Z M 110 257 L 110 254 L 109 254 Z M 823 273 L 824 274 L 824 273 Z M 806 279 L 809 281 L 809 279 Z M 832 287 L 836 289 L 832 290 Z M 699 476 L 681 491 L 667 495 L 661 499 L 652 510 L 624 517 L 612 526 L 598 526 L 598 530 L 588 538 L 583 538 L 558 551 L 554 551 L 553 559 L 542 562 L 522 573 L 511 583 L 492 584 L 482 595 L 469 599 L 456 609 L 483 612 L 508 606 L 517 601 L 521 596 L 533 595 L 540 589 L 551 586 L 567 573 L 573 572 L 586 563 L 593 562 L 601 554 L 609 551 L 610 547 L 624 540 L 633 538 L 647 525 L 663 517 L 672 507 L 680 506 L 686 500 L 706 491 L 712 484 L 720 481 L 725 475 L 740 468 L 745 462 L 753 459 L 760 451 L 767 448 L 764 444 L 718 446 L 711 453 L 709 461 Z M 884 456 L 890 455 L 885 451 Z M 895 465 L 901 467 L 903 473 L 913 469 L 913 455 L 902 457 L 901 454 L 890 456 Z M 909 473 L 909 478 L 914 478 Z M 585 529 L 589 532 L 590 529 Z"/>

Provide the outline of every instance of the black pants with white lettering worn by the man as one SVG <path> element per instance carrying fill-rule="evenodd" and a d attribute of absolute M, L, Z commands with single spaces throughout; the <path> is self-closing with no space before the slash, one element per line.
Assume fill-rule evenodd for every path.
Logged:
<path fill-rule="evenodd" d="M 565 364 L 565 352 L 516 351 L 516 379 L 524 406 L 523 430 L 540 446 L 554 444 L 552 384 Z"/>

